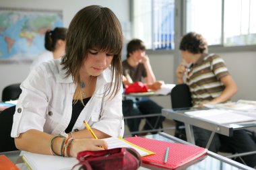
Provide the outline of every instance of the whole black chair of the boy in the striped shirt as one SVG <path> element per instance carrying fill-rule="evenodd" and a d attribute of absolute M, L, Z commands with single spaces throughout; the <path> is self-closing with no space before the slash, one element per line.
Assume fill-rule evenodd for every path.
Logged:
<path fill-rule="evenodd" d="M 189 90 L 189 86 L 186 84 L 179 84 L 173 87 L 172 91 L 170 92 L 170 99 L 172 102 L 173 110 L 190 108 L 193 106 L 191 92 Z M 187 140 L 184 123 L 177 120 L 175 120 L 174 122 L 176 123 L 174 136 L 183 140 Z"/>

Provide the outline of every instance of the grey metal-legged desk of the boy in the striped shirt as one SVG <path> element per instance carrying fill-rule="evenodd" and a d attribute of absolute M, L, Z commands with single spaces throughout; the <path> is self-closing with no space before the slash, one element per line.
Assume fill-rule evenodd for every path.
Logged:
<path fill-rule="evenodd" d="M 226 136 L 232 136 L 233 130 L 256 126 L 256 121 L 238 122 L 238 123 L 232 123 L 232 124 L 217 124 L 214 122 L 210 122 L 207 120 L 195 118 L 187 114 L 184 114 L 185 112 L 195 111 L 195 110 L 201 110 L 201 109 L 198 109 L 198 108 L 187 108 L 187 109 L 184 108 L 180 110 L 163 109 L 162 116 L 165 116 L 167 119 L 184 122 L 187 140 L 192 144 L 195 144 L 195 138 L 194 138 L 192 126 L 197 126 L 199 128 L 204 128 L 206 130 L 212 131 L 210 139 L 207 142 L 206 148 L 209 148 L 215 133 L 223 134 Z"/>

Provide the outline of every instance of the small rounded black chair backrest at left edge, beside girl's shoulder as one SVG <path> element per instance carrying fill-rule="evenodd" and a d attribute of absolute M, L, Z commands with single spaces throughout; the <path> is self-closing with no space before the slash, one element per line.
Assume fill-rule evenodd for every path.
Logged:
<path fill-rule="evenodd" d="M 20 89 L 20 83 L 8 85 L 3 89 L 2 101 L 15 100 L 20 97 L 22 89 Z"/>

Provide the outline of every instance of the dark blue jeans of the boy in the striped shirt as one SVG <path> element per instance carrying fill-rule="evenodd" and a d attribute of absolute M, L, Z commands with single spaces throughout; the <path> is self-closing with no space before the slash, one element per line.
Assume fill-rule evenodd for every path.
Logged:
<path fill-rule="evenodd" d="M 193 131 L 195 144 L 205 148 L 212 132 L 195 126 L 193 126 Z M 218 153 L 218 151 L 245 153 L 256 151 L 256 143 L 245 130 L 234 130 L 233 136 L 230 137 L 222 134 L 215 134 L 208 150 L 214 153 Z M 240 159 L 236 159 L 235 161 L 243 163 Z M 245 161 L 249 167 L 255 167 L 256 154 L 243 157 L 243 161 Z"/>

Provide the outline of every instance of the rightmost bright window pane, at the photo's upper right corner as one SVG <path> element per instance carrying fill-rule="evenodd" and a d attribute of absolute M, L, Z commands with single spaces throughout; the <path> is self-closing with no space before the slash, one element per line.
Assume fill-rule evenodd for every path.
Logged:
<path fill-rule="evenodd" d="M 256 44 L 256 0 L 225 0 L 224 45 Z"/>

